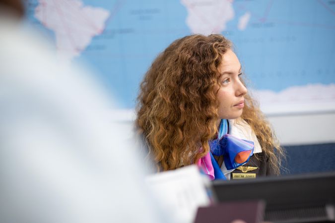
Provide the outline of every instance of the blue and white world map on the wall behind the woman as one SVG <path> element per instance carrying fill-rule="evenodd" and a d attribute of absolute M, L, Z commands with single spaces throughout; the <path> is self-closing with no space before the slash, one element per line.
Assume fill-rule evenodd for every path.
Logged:
<path fill-rule="evenodd" d="M 266 112 L 335 110 L 335 0 L 28 0 L 27 21 L 123 109 L 170 43 L 220 33 Z"/>

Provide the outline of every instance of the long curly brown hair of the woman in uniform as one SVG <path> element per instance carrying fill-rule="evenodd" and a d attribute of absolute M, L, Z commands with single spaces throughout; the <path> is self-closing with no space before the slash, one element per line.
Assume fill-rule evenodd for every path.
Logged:
<path fill-rule="evenodd" d="M 135 126 L 158 169 L 191 165 L 209 152 L 208 141 L 217 132 L 218 67 L 231 48 L 221 35 L 191 35 L 174 41 L 152 62 L 140 85 Z M 283 150 L 250 95 L 241 117 L 279 174 Z"/>

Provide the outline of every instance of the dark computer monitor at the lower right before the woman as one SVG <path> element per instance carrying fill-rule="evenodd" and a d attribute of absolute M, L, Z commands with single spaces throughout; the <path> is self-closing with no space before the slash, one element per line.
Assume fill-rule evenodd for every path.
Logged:
<path fill-rule="evenodd" d="M 263 200 L 266 222 L 335 222 L 335 172 L 213 181 L 218 202 Z"/>

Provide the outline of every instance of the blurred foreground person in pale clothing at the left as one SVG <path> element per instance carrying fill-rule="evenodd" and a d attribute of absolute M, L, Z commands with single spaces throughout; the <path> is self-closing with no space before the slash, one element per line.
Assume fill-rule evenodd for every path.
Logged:
<path fill-rule="evenodd" d="M 0 222 L 161 222 L 130 134 L 83 72 L 23 32 L 0 0 Z"/>

